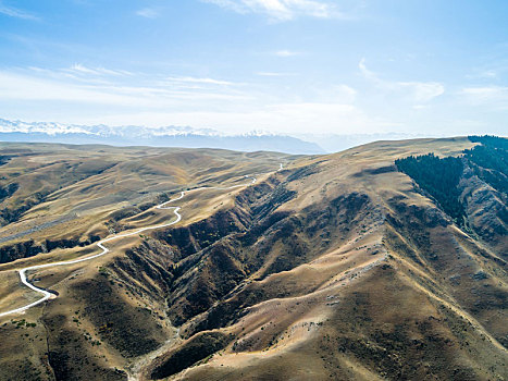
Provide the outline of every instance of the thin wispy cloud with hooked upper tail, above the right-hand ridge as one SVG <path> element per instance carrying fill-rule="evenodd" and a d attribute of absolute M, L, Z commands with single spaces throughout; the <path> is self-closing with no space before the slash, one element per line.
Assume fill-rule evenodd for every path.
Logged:
<path fill-rule="evenodd" d="M 445 93 L 445 86 L 438 82 L 398 82 L 381 78 L 367 67 L 365 59 L 358 64 L 361 74 L 375 86 L 385 91 L 398 93 L 417 103 L 425 103 Z"/>

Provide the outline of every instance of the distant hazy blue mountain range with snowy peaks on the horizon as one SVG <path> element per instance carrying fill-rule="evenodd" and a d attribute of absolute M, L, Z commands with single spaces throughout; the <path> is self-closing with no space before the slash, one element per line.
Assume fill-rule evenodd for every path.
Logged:
<path fill-rule="evenodd" d="M 77 125 L 52 122 L 22 122 L 0 119 L 0 142 L 106 144 L 113 146 L 156 146 L 222 148 L 240 151 L 271 150 L 287 153 L 324 153 L 315 143 L 286 135 L 253 131 L 223 135 L 210 128 L 165 126 Z"/>

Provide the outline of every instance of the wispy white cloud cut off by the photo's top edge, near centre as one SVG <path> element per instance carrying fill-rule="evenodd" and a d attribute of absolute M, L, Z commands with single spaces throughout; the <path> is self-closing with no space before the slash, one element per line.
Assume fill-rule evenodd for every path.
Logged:
<path fill-rule="evenodd" d="M 264 14 L 274 21 L 289 21 L 298 16 L 318 19 L 344 17 L 337 5 L 329 0 L 201 0 L 237 13 Z"/>

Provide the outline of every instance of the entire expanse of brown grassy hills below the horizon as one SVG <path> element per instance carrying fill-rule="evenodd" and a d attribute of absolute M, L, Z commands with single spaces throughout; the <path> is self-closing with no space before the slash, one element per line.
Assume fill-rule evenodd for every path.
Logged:
<path fill-rule="evenodd" d="M 14 270 L 172 219 L 153 206 L 181 190 L 258 179 L 191 190 L 178 224 L 29 274 L 58 297 L 1 318 L 0 378 L 505 380 L 505 177 L 476 147 L 488 143 L 312 157 L 2 145 L 0 312 L 37 298 Z M 400 164 L 431 152 L 461 163 L 446 197 L 432 171 Z"/>

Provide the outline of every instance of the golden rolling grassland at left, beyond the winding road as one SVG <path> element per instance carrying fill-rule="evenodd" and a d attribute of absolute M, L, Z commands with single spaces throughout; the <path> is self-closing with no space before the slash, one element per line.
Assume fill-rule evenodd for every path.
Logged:
<path fill-rule="evenodd" d="M 168 195 L 267 172 L 283 155 L 108 146 L 0 145 L 0 262 L 87 245 Z M 0 196 L 2 194 L 0 193 Z"/>

